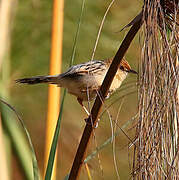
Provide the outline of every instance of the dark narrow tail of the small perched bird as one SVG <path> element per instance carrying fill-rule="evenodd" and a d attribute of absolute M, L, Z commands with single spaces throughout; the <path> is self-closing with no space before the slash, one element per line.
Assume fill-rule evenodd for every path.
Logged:
<path fill-rule="evenodd" d="M 58 84 L 58 76 L 34 76 L 34 77 L 31 77 L 31 78 L 17 79 L 16 83 L 23 83 L 23 84 L 38 84 L 38 83 Z"/>

